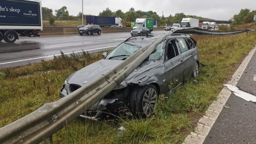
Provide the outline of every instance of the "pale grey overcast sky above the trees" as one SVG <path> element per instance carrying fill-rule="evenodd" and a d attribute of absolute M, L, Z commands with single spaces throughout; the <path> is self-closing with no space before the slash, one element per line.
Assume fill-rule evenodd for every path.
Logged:
<path fill-rule="evenodd" d="M 82 11 L 82 0 L 42 0 L 42 6 L 56 10 L 62 6 L 68 8 L 69 14 L 77 15 Z M 84 0 L 84 14 L 98 15 L 110 8 L 112 11 L 121 9 L 157 12 L 159 16 L 174 15 L 183 12 L 215 20 L 229 20 L 243 8 L 256 10 L 256 0 Z"/>

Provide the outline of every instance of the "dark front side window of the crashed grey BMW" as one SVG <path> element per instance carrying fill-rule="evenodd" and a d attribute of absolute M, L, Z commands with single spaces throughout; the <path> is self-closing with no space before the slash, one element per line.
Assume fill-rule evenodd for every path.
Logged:
<path fill-rule="evenodd" d="M 178 47 L 176 45 L 176 42 L 172 40 L 168 43 L 165 61 L 171 60 L 172 58 L 175 58 L 178 55 Z"/>

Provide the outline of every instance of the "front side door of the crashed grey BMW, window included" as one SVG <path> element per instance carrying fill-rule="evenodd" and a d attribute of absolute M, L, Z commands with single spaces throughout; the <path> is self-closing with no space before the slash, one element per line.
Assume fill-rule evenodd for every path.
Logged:
<path fill-rule="evenodd" d="M 166 58 L 164 62 L 166 82 L 168 82 L 172 89 L 182 84 L 184 77 L 183 56 L 180 54 L 177 43 L 174 39 L 166 44 Z"/>

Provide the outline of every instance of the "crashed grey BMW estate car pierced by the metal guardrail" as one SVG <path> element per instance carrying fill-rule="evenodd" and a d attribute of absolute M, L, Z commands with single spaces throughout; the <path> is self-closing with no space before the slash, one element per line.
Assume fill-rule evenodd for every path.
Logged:
<path fill-rule="evenodd" d="M 109 54 L 103 53 L 102 60 L 68 76 L 60 91 L 60 97 L 93 82 L 155 39 L 156 36 L 132 36 Z M 118 87 L 80 117 L 98 120 L 104 112 L 119 116 L 126 116 L 129 112 L 152 116 L 158 95 L 168 94 L 170 83 L 173 83 L 175 89 L 190 76 L 198 76 L 198 72 L 196 41 L 185 34 L 171 34 Z"/>

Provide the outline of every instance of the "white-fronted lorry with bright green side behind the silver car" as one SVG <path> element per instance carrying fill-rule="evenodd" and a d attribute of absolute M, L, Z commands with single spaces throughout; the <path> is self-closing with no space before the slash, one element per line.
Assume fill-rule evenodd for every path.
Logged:
<path fill-rule="evenodd" d="M 149 33 L 151 33 L 154 29 L 154 19 L 153 18 L 137 18 L 133 29 L 137 27 L 148 28 Z"/>

